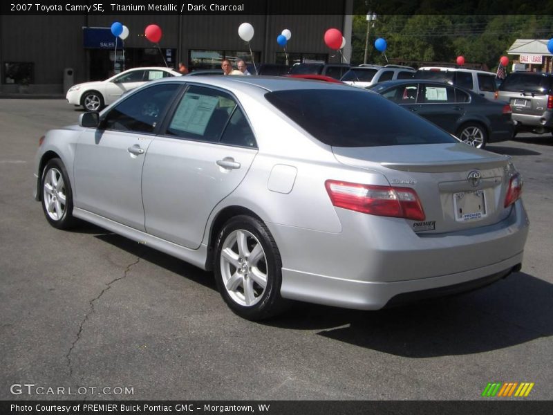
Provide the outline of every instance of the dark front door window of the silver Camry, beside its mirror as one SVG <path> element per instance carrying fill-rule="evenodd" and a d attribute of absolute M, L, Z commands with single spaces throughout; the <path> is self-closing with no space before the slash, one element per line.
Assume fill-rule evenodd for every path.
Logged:
<path fill-rule="evenodd" d="M 134 93 L 107 113 L 104 129 L 152 133 L 178 88 L 178 84 L 161 84 Z"/>

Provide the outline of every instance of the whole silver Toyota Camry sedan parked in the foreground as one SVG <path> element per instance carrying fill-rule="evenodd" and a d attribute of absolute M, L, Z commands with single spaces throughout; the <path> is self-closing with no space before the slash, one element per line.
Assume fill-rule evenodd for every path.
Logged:
<path fill-rule="evenodd" d="M 250 320 L 483 286 L 521 268 L 528 231 L 508 157 L 316 81 L 149 82 L 48 131 L 35 175 L 55 228 L 84 219 L 214 270 Z"/>

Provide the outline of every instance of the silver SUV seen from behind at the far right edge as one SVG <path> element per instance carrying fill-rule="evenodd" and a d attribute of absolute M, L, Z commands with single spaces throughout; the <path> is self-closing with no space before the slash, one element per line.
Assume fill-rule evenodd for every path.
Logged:
<path fill-rule="evenodd" d="M 553 74 L 509 73 L 499 87 L 498 99 L 511 104 L 517 132 L 553 131 Z"/>

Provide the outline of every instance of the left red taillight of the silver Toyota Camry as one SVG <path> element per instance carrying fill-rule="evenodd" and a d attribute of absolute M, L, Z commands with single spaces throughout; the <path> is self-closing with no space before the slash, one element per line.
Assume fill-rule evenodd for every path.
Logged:
<path fill-rule="evenodd" d="M 424 221 L 419 196 L 409 187 L 361 185 L 335 180 L 325 182 L 332 205 L 377 216 Z"/>

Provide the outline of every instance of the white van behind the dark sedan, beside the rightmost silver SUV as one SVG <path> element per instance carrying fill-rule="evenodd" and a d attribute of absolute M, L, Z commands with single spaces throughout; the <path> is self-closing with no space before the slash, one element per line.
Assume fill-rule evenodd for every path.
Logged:
<path fill-rule="evenodd" d="M 415 78 L 447 82 L 448 84 L 470 89 L 488 100 L 495 100 L 497 75 L 493 72 L 476 69 L 447 68 L 444 66 L 422 66 Z"/>

